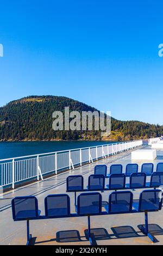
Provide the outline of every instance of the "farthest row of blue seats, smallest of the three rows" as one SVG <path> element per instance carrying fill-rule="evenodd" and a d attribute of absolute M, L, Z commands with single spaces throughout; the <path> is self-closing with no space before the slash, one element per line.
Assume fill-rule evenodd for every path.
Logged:
<path fill-rule="evenodd" d="M 137 163 L 129 163 L 126 166 L 126 176 L 130 176 L 132 173 L 137 173 L 139 166 Z M 122 164 L 112 164 L 110 166 L 110 173 L 107 174 L 107 166 L 105 164 L 98 164 L 95 166 L 94 174 L 103 174 L 105 177 L 109 177 L 111 174 L 121 174 L 123 170 Z M 151 176 L 154 172 L 153 163 L 143 163 L 141 166 L 141 172 L 145 173 L 147 176 Z M 163 172 L 163 162 L 158 163 L 156 167 L 156 172 Z"/>

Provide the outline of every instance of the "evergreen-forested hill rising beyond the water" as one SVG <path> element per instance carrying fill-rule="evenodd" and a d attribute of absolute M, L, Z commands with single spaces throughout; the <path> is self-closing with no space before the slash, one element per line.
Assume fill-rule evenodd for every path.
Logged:
<path fill-rule="evenodd" d="M 102 139 L 101 131 L 54 131 L 52 113 L 96 111 L 86 104 L 61 96 L 28 96 L 11 101 L 0 108 L 0 141 L 42 141 L 68 139 Z M 139 121 L 120 121 L 112 118 L 110 140 L 130 140 L 161 136 L 163 126 Z"/>

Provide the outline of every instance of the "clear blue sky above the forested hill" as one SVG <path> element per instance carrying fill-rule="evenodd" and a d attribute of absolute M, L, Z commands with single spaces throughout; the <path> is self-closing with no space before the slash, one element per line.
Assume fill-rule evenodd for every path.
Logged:
<path fill-rule="evenodd" d="M 67 96 L 163 124 L 162 0 L 0 2 L 0 106 Z"/>

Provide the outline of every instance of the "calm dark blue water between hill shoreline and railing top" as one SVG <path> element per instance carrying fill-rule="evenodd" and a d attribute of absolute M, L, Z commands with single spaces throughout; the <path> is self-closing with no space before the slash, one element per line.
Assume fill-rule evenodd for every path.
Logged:
<path fill-rule="evenodd" d="M 92 147 L 115 142 L 64 141 L 64 142 L 0 142 L 0 159 L 35 155 L 54 151 Z"/>

